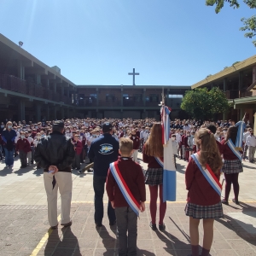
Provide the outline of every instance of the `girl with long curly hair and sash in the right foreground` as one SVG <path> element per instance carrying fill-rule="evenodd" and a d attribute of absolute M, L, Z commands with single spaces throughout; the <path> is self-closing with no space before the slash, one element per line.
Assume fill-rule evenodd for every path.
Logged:
<path fill-rule="evenodd" d="M 199 256 L 200 219 L 203 219 L 203 245 L 201 256 L 209 255 L 213 240 L 214 218 L 223 217 L 219 183 L 222 158 L 212 131 L 201 128 L 195 133 L 195 143 L 200 151 L 191 155 L 185 172 L 188 192 L 186 215 L 189 216 L 189 233 L 192 256 Z"/>

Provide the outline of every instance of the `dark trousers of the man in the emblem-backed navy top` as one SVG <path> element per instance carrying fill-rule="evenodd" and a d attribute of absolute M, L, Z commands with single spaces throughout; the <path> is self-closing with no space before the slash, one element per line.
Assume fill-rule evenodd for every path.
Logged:
<path fill-rule="evenodd" d="M 104 215 L 104 208 L 103 208 L 103 195 L 105 189 L 107 177 L 102 176 L 93 176 L 93 189 L 94 189 L 94 219 L 96 224 L 102 224 L 102 218 Z M 115 221 L 115 213 L 113 207 L 111 206 L 110 201 L 108 201 L 108 219 L 110 223 Z"/>

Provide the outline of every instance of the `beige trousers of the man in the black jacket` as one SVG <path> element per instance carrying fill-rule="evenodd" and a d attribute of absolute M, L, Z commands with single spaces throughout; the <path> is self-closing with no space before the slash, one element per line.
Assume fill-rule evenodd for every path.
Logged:
<path fill-rule="evenodd" d="M 51 227 L 58 224 L 57 220 L 57 200 L 58 188 L 61 194 L 61 224 L 70 222 L 70 207 L 72 198 L 72 174 L 71 172 L 56 172 L 55 173 L 55 188 L 53 189 L 53 175 L 44 172 L 44 188 L 48 202 L 48 220 Z"/>

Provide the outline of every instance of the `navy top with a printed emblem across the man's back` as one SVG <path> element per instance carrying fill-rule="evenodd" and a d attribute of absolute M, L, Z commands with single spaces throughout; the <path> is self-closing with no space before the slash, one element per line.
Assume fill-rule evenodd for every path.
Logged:
<path fill-rule="evenodd" d="M 104 133 L 90 144 L 88 157 L 94 161 L 94 175 L 107 177 L 109 164 L 118 160 L 119 142 Z"/>

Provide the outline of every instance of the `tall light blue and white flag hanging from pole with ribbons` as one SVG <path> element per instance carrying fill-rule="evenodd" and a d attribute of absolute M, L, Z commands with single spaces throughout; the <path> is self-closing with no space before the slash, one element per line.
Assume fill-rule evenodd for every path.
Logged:
<path fill-rule="evenodd" d="M 170 117 L 171 108 L 162 106 L 162 143 L 164 147 L 164 173 L 163 173 L 163 201 L 176 201 L 176 168 L 172 151 L 172 140 L 170 139 Z"/>

